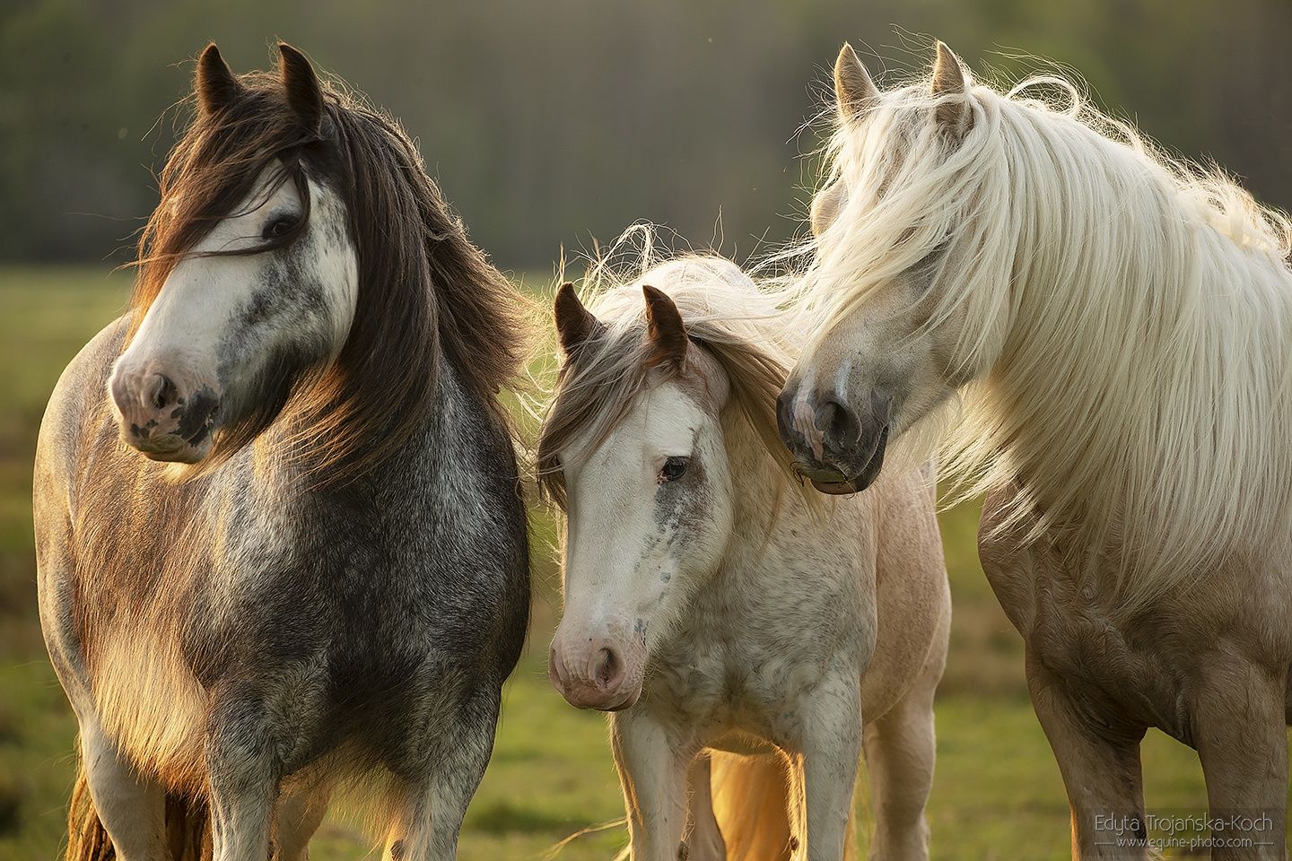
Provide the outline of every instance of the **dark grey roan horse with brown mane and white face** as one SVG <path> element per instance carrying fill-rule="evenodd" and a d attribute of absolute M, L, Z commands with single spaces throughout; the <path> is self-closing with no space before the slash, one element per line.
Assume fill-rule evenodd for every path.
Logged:
<path fill-rule="evenodd" d="M 398 124 L 278 54 L 202 53 L 130 306 L 41 423 L 71 860 L 300 860 L 351 782 L 388 860 L 452 858 L 525 639 L 522 301 Z"/>

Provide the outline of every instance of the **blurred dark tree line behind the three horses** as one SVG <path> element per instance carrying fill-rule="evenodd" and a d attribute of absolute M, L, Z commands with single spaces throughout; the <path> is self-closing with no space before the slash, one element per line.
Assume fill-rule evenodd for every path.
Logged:
<path fill-rule="evenodd" d="M 798 227 L 840 43 L 897 80 L 933 36 L 1001 80 L 1076 70 L 1292 207 L 1292 0 L 4 0 L 0 259 L 127 259 L 193 58 L 275 37 L 403 120 L 503 266 L 638 218 L 743 256 Z"/>

